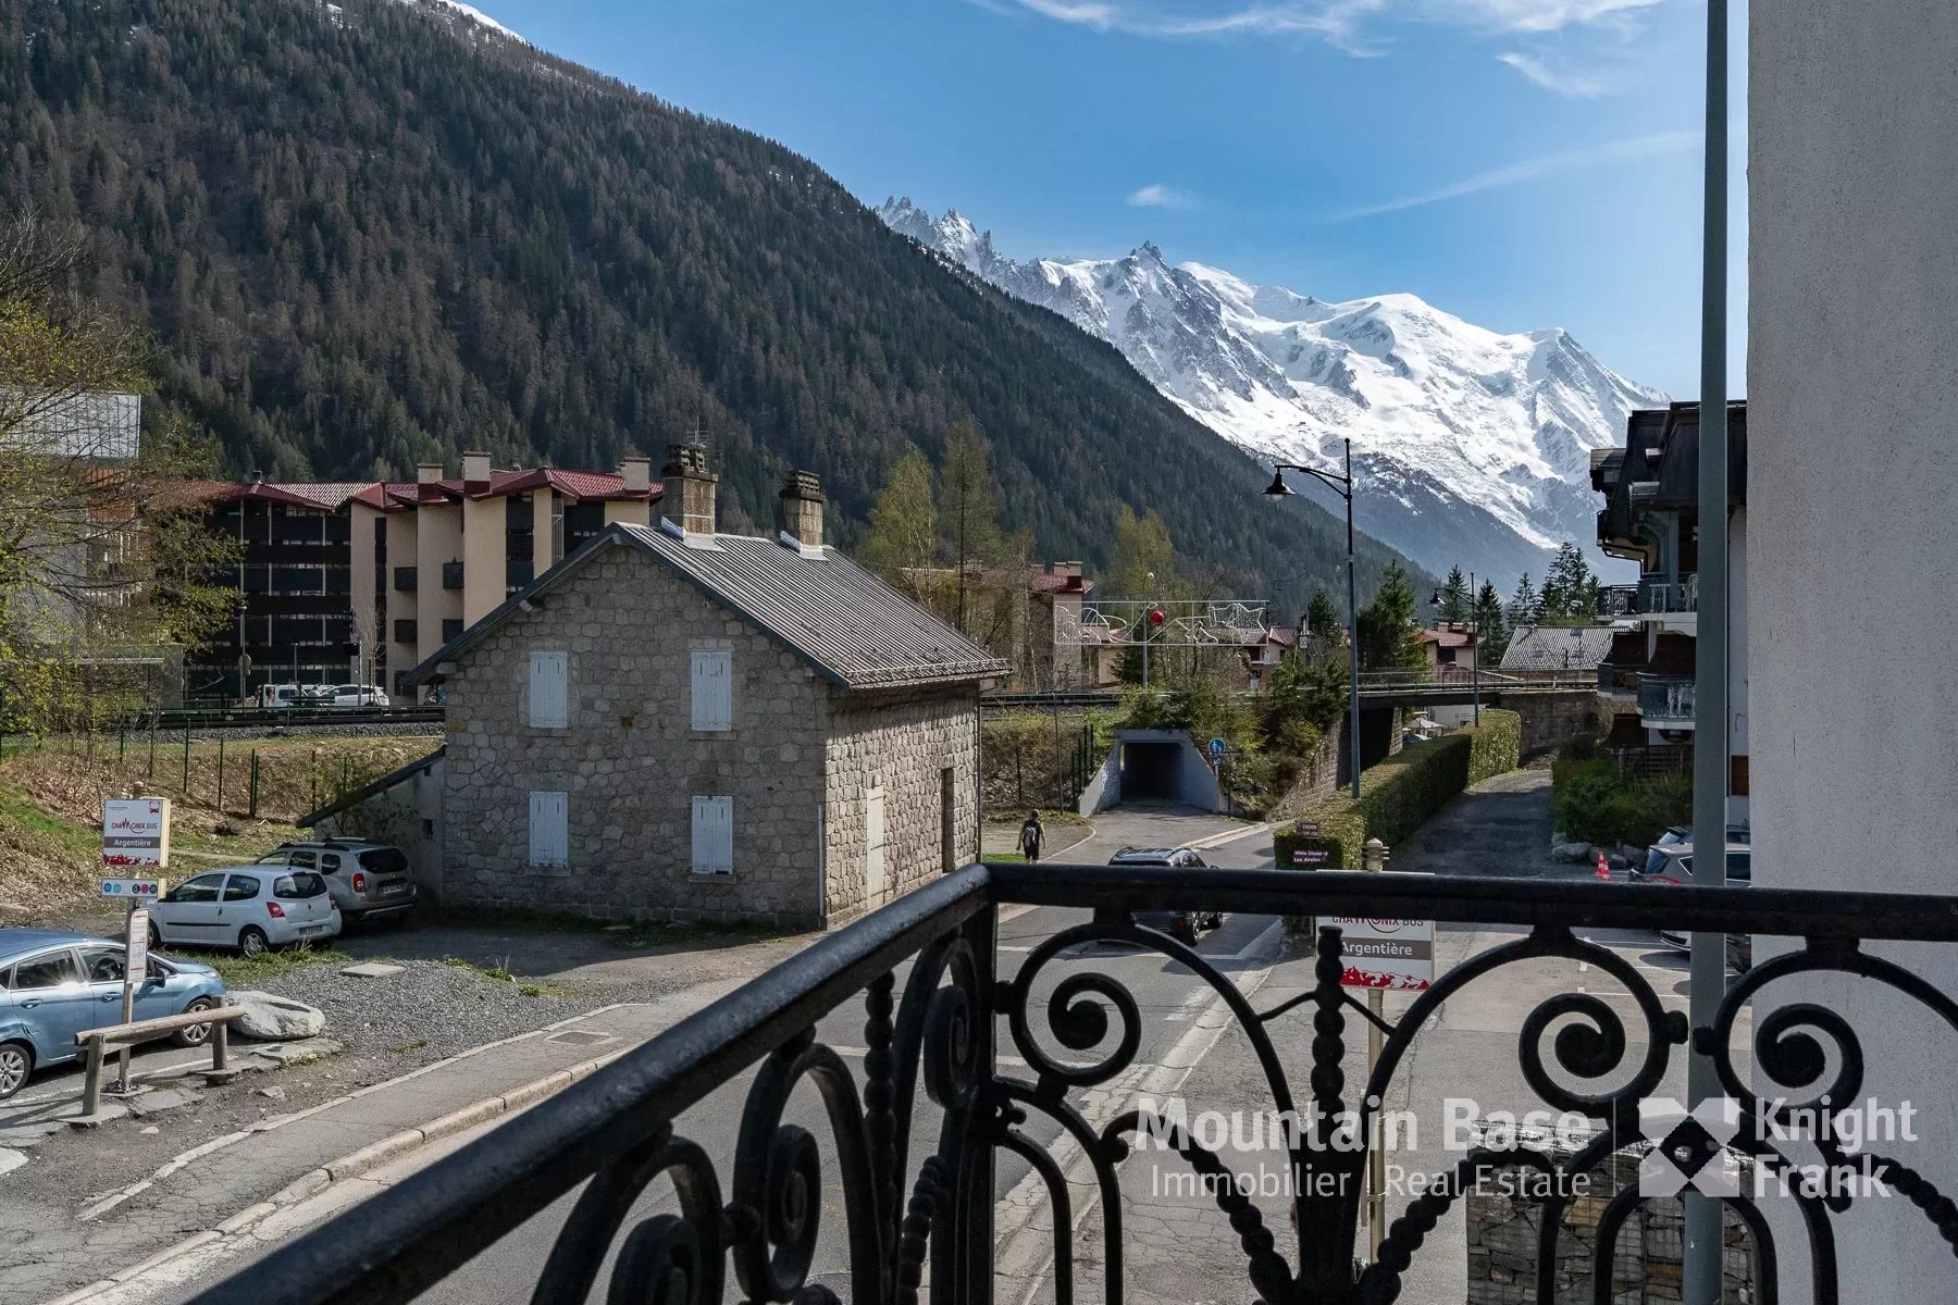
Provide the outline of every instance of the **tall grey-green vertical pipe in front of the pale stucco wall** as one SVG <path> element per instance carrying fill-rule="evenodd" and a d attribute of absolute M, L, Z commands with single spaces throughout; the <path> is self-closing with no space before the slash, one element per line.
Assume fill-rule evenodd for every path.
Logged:
<path fill-rule="evenodd" d="M 1694 878 L 1727 882 L 1727 0 L 1707 0 L 1705 231 L 1700 286 L 1700 612 L 1694 632 Z M 1688 1019 L 1713 1027 L 1727 937 L 1692 935 Z M 1686 1062 L 1688 1109 L 1723 1096 L 1713 1058 Z M 1725 1207 L 1686 1192 L 1684 1301 L 1721 1301 Z"/>

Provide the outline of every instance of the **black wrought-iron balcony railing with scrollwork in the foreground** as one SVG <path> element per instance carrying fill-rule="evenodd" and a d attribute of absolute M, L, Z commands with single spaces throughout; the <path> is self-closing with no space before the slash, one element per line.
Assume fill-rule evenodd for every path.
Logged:
<path fill-rule="evenodd" d="M 997 923 L 1010 904 L 1093 906 L 1095 916 L 1048 935 L 1030 953 L 1002 955 Z M 1259 1008 L 1212 959 L 1134 918 L 1198 908 L 1322 920 L 1425 918 L 1514 931 L 1447 968 L 1398 1019 L 1382 1021 L 1384 1047 L 1361 1084 L 1345 1078 L 1343 1062 L 1369 1015 L 1341 986 L 1341 931 L 1318 929 L 1304 992 Z M 1788 943 L 1727 988 L 1709 1023 L 1690 1027 L 1662 1002 L 1647 970 L 1592 941 L 1606 929 L 1713 929 Z M 1958 1029 L 1958 1002 L 1876 955 L 1864 945 L 1872 941 L 1954 943 L 1958 898 L 1339 871 L 1214 869 L 1192 877 L 1175 869 L 969 867 L 813 943 L 589 1078 L 282 1246 L 276 1274 L 251 1266 L 196 1299 L 409 1301 L 536 1217 L 552 1223 L 533 1225 L 493 1252 L 497 1289 L 523 1285 L 535 1301 L 721 1301 L 730 1278 L 752 1301 L 895 1305 L 916 1301 L 920 1287 L 940 1305 L 1020 1299 L 1024 1282 L 995 1293 L 995 1164 L 1004 1152 L 1030 1166 L 1032 1186 L 1051 1203 L 1051 1219 L 1032 1227 L 1051 1229 L 1040 1237 L 1051 1238 L 1055 1299 L 1071 1301 L 1075 1278 L 1093 1272 L 1104 1283 L 1098 1297 L 1124 1301 L 1132 1266 L 1124 1260 L 1118 1166 L 1143 1127 L 1138 1109 L 1126 1105 L 1143 1082 L 1128 1074 L 1138 1066 L 1142 1008 L 1112 963 L 1098 959 L 1110 953 L 1095 945 L 1110 943 L 1130 959 L 1153 951 L 1192 984 L 1208 986 L 1261 1068 L 1259 1109 L 1281 1117 L 1292 1111 L 1304 1121 L 1281 1147 L 1294 1199 L 1251 1199 L 1230 1182 L 1208 1186 L 1232 1231 L 1216 1248 L 1241 1268 L 1241 1278 L 1206 1295 L 1245 1299 L 1255 1291 L 1275 1305 L 1384 1305 L 1404 1299 L 1402 1274 L 1467 1190 L 1504 1174 L 1555 1172 L 1568 1180 L 1609 1162 L 1613 1133 L 1639 1137 L 1641 1103 L 1662 1098 L 1662 1082 L 1678 1078 L 1690 1047 L 1713 1058 L 1741 1113 L 1729 1150 L 1766 1170 L 1788 1164 L 1797 1145 L 1831 1154 L 1837 1143 L 1829 1125 L 1815 1125 L 1829 1111 L 1817 1113 L 1815 1103 L 1856 1098 L 1864 1053 L 1839 1008 L 1799 1000 L 1813 976 L 1856 980 L 1858 990 L 1872 986 L 1899 1010 L 1915 1008 L 1925 1021 Z M 1555 990 L 1521 1019 L 1517 1066 L 1545 1102 L 1600 1125 L 1596 1141 L 1551 1160 L 1517 1135 L 1484 1139 L 1423 1184 L 1363 1264 L 1361 1176 L 1375 1141 L 1375 1103 L 1394 1090 L 1410 1051 L 1433 1033 L 1429 1017 L 1443 1002 L 1476 984 L 1484 1000 L 1506 992 L 1515 967 L 1545 961 L 1568 965 L 1572 986 Z M 1797 1000 L 1762 998 L 1784 978 L 1795 980 L 1788 988 Z M 1600 982 L 1621 1002 L 1596 996 Z M 1737 1021 L 1754 1012 L 1756 998 L 1772 1010 L 1756 1017 L 1758 1037 L 1747 1039 L 1737 1035 Z M 862 1010 L 862 1021 L 850 1019 L 844 1035 L 856 1045 L 824 1041 L 818 1021 L 850 1017 L 852 1010 Z M 1735 1049 L 1735 1041 L 1743 1047 Z M 1002 1068 L 1001 1043 L 1016 1057 L 1010 1068 Z M 1580 1086 L 1564 1086 L 1570 1082 Z M 1228 1103 L 1241 1103 L 1241 1084 L 1230 1092 Z M 1190 1103 L 1196 1109 L 1200 1102 Z M 719 1160 L 695 1141 L 715 1135 L 726 1139 Z M 1071 1164 L 1083 1166 L 1079 1174 L 1063 1174 L 1049 1154 L 1044 1139 L 1057 1135 L 1077 1148 Z M 1676 1131 L 1666 1139 L 1666 1156 L 1678 1164 L 1719 1154 L 1703 1129 L 1674 1150 L 1682 1137 Z M 1228 1156 L 1181 1125 L 1171 1123 L 1165 1141 L 1196 1174 L 1228 1172 Z M 1833 1154 L 1841 1156 L 1841 1148 Z M 1874 1152 L 1866 1158 L 1882 1184 L 1909 1197 L 1884 1201 L 1886 1219 L 1919 1223 L 1917 1235 L 1929 1244 L 1940 1233 L 1950 1240 L 1958 1217 L 1935 1186 L 1901 1160 Z M 1073 1180 L 1096 1186 L 1096 1221 L 1073 1219 Z M 1637 1186 L 1625 1188 L 1602 1209 L 1588 1209 L 1582 1223 L 1594 1231 L 1572 1233 L 1566 1217 L 1580 1211 L 1578 1197 L 1562 1193 L 1568 1186 L 1553 1184 L 1541 1195 L 1531 1235 L 1537 1282 L 1557 1282 L 1561 1254 L 1576 1242 L 1619 1250 L 1617 1233 L 1647 1201 Z M 574 1201 L 552 1209 L 574 1192 Z M 1848 1299 L 1839 1297 L 1837 1242 L 1870 1233 L 1868 1197 L 1788 1199 L 1799 1203 L 1799 1221 L 1772 1227 L 1754 1201 L 1729 1201 L 1756 1264 L 1754 1299 L 1778 1299 L 1776 1264 L 1784 1274 L 1794 1266 L 1809 1276 L 1817 1301 Z M 824 1238 L 824 1262 L 834 1268 L 816 1276 L 824 1211 L 832 1211 L 830 1219 L 840 1211 L 844 1229 Z M 1151 1213 L 1159 1225 L 1161 1211 Z M 1296 1252 L 1284 1235 L 1288 1217 L 1300 1231 Z M 546 1233 L 548 1254 L 535 1250 L 538 1231 Z M 1895 1240 L 1901 1233 L 1886 1229 L 1884 1237 Z M 1451 1254 L 1461 1256 L 1461 1248 Z M 1617 1299 L 1615 1268 L 1609 1252 L 1596 1256 L 1596 1299 Z M 1594 1293 L 1586 1289 L 1582 1299 Z"/>

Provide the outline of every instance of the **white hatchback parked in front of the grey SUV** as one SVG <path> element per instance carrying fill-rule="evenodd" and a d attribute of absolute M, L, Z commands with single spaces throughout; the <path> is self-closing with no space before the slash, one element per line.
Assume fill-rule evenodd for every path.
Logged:
<path fill-rule="evenodd" d="M 153 947 L 237 947 L 247 957 L 339 937 L 325 877 L 282 865 L 233 865 L 186 878 L 149 908 Z"/>

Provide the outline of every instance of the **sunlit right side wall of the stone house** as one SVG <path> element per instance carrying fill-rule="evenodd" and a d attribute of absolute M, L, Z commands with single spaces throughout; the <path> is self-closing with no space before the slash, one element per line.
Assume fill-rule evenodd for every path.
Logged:
<path fill-rule="evenodd" d="M 840 923 L 944 873 L 950 816 L 954 867 L 979 859 L 977 689 L 832 693 L 824 749 L 828 920 Z M 946 810 L 944 771 L 952 771 Z M 883 890 L 865 896 L 865 800 L 883 790 Z"/>

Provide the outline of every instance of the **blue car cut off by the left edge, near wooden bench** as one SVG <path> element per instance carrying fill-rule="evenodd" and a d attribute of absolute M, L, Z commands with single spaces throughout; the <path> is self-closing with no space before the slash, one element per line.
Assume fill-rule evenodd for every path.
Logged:
<path fill-rule="evenodd" d="M 123 945 L 61 929 L 0 929 L 0 1102 L 45 1064 L 76 1057 L 74 1035 L 121 1023 Z M 208 965 L 149 959 L 135 1017 L 157 1019 L 225 1004 L 225 980 Z M 211 1025 L 174 1035 L 200 1047 Z"/>

